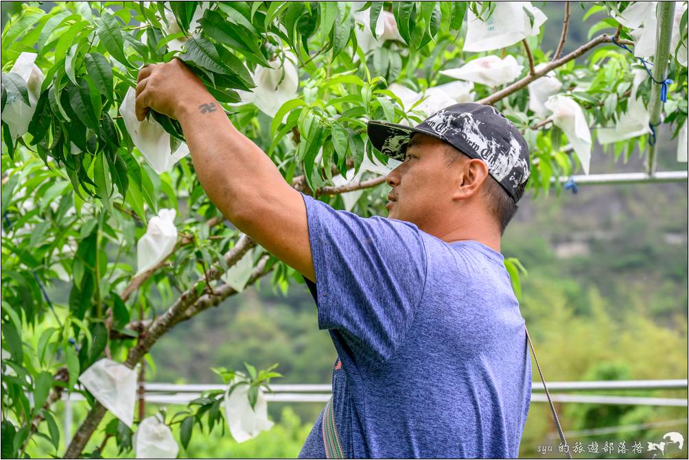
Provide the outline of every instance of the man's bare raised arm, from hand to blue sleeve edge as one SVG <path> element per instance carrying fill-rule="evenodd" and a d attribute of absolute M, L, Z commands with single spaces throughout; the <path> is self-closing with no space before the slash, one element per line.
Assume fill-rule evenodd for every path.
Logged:
<path fill-rule="evenodd" d="M 176 118 L 196 175 L 238 229 L 315 281 L 306 207 L 278 168 L 227 119 L 223 107 L 181 60 L 150 64 L 138 74 L 136 116 L 149 109 Z"/>

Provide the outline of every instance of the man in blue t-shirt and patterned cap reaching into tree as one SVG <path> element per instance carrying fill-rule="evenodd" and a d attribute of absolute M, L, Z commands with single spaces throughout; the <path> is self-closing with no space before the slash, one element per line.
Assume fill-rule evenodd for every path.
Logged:
<path fill-rule="evenodd" d="M 417 127 L 370 122 L 403 162 L 389 218 L 364 219 L 290 187 L 178 59 L 144 67 L 136 94 L 140 120 L 180 121 L 225 217 L 316 283 L 338 359 L 300 457 L 517 457 L 531 361 L 500 236 L 529 165 L 504 116 L 457 104 Z"/>

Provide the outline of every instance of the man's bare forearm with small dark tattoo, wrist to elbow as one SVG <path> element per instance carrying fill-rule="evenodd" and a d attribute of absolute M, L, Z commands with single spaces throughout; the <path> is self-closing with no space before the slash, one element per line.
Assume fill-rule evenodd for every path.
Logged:
<path fill-rule="evenodd" d="M 238 132 L 212 96 L 190 102 L 178 120 L 201 186 L 234 224 L 240 226 L 260 203 L 291 191 L 270 158 Z"/>

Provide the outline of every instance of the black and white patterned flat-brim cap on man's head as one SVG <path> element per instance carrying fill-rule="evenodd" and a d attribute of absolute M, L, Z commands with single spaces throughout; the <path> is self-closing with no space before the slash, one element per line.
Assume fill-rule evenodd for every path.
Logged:
<path fill-rule="evenodd" d="M 368 133 L 373 147 L 395 160 L 404 160 L 415 133 L 443 140 L 469 158 L 484 160 L 491 176 L 515 202 L 522 198 L 531 174 L 526 140 L 491 105 L 450 105 L 415 127 L 369 121 Z"/>

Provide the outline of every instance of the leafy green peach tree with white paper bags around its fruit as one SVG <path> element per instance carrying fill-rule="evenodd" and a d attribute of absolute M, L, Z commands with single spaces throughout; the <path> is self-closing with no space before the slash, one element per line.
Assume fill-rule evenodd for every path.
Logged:
<path fill-rule="evenodd" d="M 37 3 L 2 32 L 3 457 L 27 457 L 37 438 L 44 455 L 98 457 L 110 437 L 127 452 L 142 412 L 132 424 L 133 406 L 106 407 L 86 370 L 136 381 L 176 324 L 266 275 L 285 293 L 301 282 L 205 196 L 175 120 L 132 117 L 147 63 L 182 59 L 287 182 L 362 216 L 383 213 L 394 166 L 366 121 L 414 124 L 453 103 L 495 105 L 522 129 L 533 194 L 588 174 L 594 141 L 616 157 L 638 148 L 652 171 L 661 123 L 683 133 L 686 160 L 686 2 L 592 2 L 599 20 L 568 53 L 570 2 L 549 19 L 562 21 L 555 49 L 530 2 Z M 524 269 L 506 266 L 519 294 Z M 65 300 L 50 300 L 56 288 Z M 216 372 L 257 412 L 279 376 Z M 90 410 L 57 452 L 54 403 L 72 392 Z M 225 429 L 232 394 L 151 423 L 179 425 L 186 446 L 204 421 Z M 109 410 L 101 447 L 85 452 Z"/>

